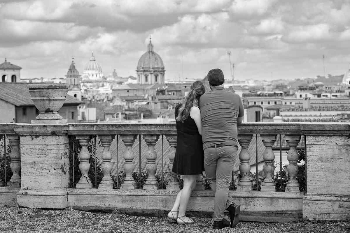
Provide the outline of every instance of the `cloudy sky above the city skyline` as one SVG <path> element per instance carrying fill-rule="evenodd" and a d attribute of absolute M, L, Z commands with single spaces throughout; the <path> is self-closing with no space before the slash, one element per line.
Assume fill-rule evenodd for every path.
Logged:
<path fill-rule="evenodd" d="M 92 51 L 105 74 L 135 76 L 150 35 L 167 79 L 230 77 L 227 51 L 240 80 L 323 75 L 322 54 L 326 74 L 350 63 L 349 0 L 0 0 L 0 32 L 23 78 L 63 77 L 72 56 L 82 73 Z"/>

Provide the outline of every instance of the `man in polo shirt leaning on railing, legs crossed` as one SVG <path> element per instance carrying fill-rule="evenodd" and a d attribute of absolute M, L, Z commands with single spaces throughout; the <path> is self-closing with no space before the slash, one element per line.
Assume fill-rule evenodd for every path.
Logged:
<path fill-rule="evenodd" d="M 211 91 L 199 100 L 204 168 L 215 192 L 213 229 L 222 229 L 234 227 L 239 221 L 240 207 L 235 205 L 228 190 L 238 151 L 237 124 L 242 122 L 244 109 L 239 95 L 224 89 L 222 70 L 210 70 L 207 78 Z M 225 209 L 229 211 L 230 223 L 224 219 Z"/>

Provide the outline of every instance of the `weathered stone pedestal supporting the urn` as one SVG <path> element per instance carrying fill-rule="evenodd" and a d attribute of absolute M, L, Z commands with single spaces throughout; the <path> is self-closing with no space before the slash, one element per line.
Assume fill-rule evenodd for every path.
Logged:
<path fill-rule="evenodd" d="M 19 206 L 63 209 L 68 207 L 68 125 L 15 125 L 21 141 Z"/>

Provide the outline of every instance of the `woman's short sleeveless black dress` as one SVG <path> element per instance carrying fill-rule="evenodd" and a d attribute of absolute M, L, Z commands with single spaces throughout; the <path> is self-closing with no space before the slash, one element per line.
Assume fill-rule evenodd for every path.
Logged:
<path fill-rule="evenodd" d="M 175 107 L 175 118 L 181 104 Z M 198 133 L 195 121 L 188 116 L 182 123 L 176 121 L 177 146 L 173 172 L 180 175 L 197 175 L 204 171 L 202 136 Z"/>

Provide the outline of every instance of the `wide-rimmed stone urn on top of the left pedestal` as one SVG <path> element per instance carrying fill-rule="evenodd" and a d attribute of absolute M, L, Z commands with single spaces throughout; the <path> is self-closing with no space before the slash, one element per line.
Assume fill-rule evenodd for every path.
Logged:
<path fill-rule="evenodd" d="M 52 123 L 54 123 L 55 120 L 62 119 L 62 116 L 58 114 L 58 110 L 66 99 L 69 84 L 35 83 L 29 84 L 27 87 L 31 100 L 40 111 L 40 114 L 35 117 L 36 120 L 40 122 L 48 121 L 48 123 L 53 120 Z M 33 120 L 32 123 L 38 121 Z"/>

